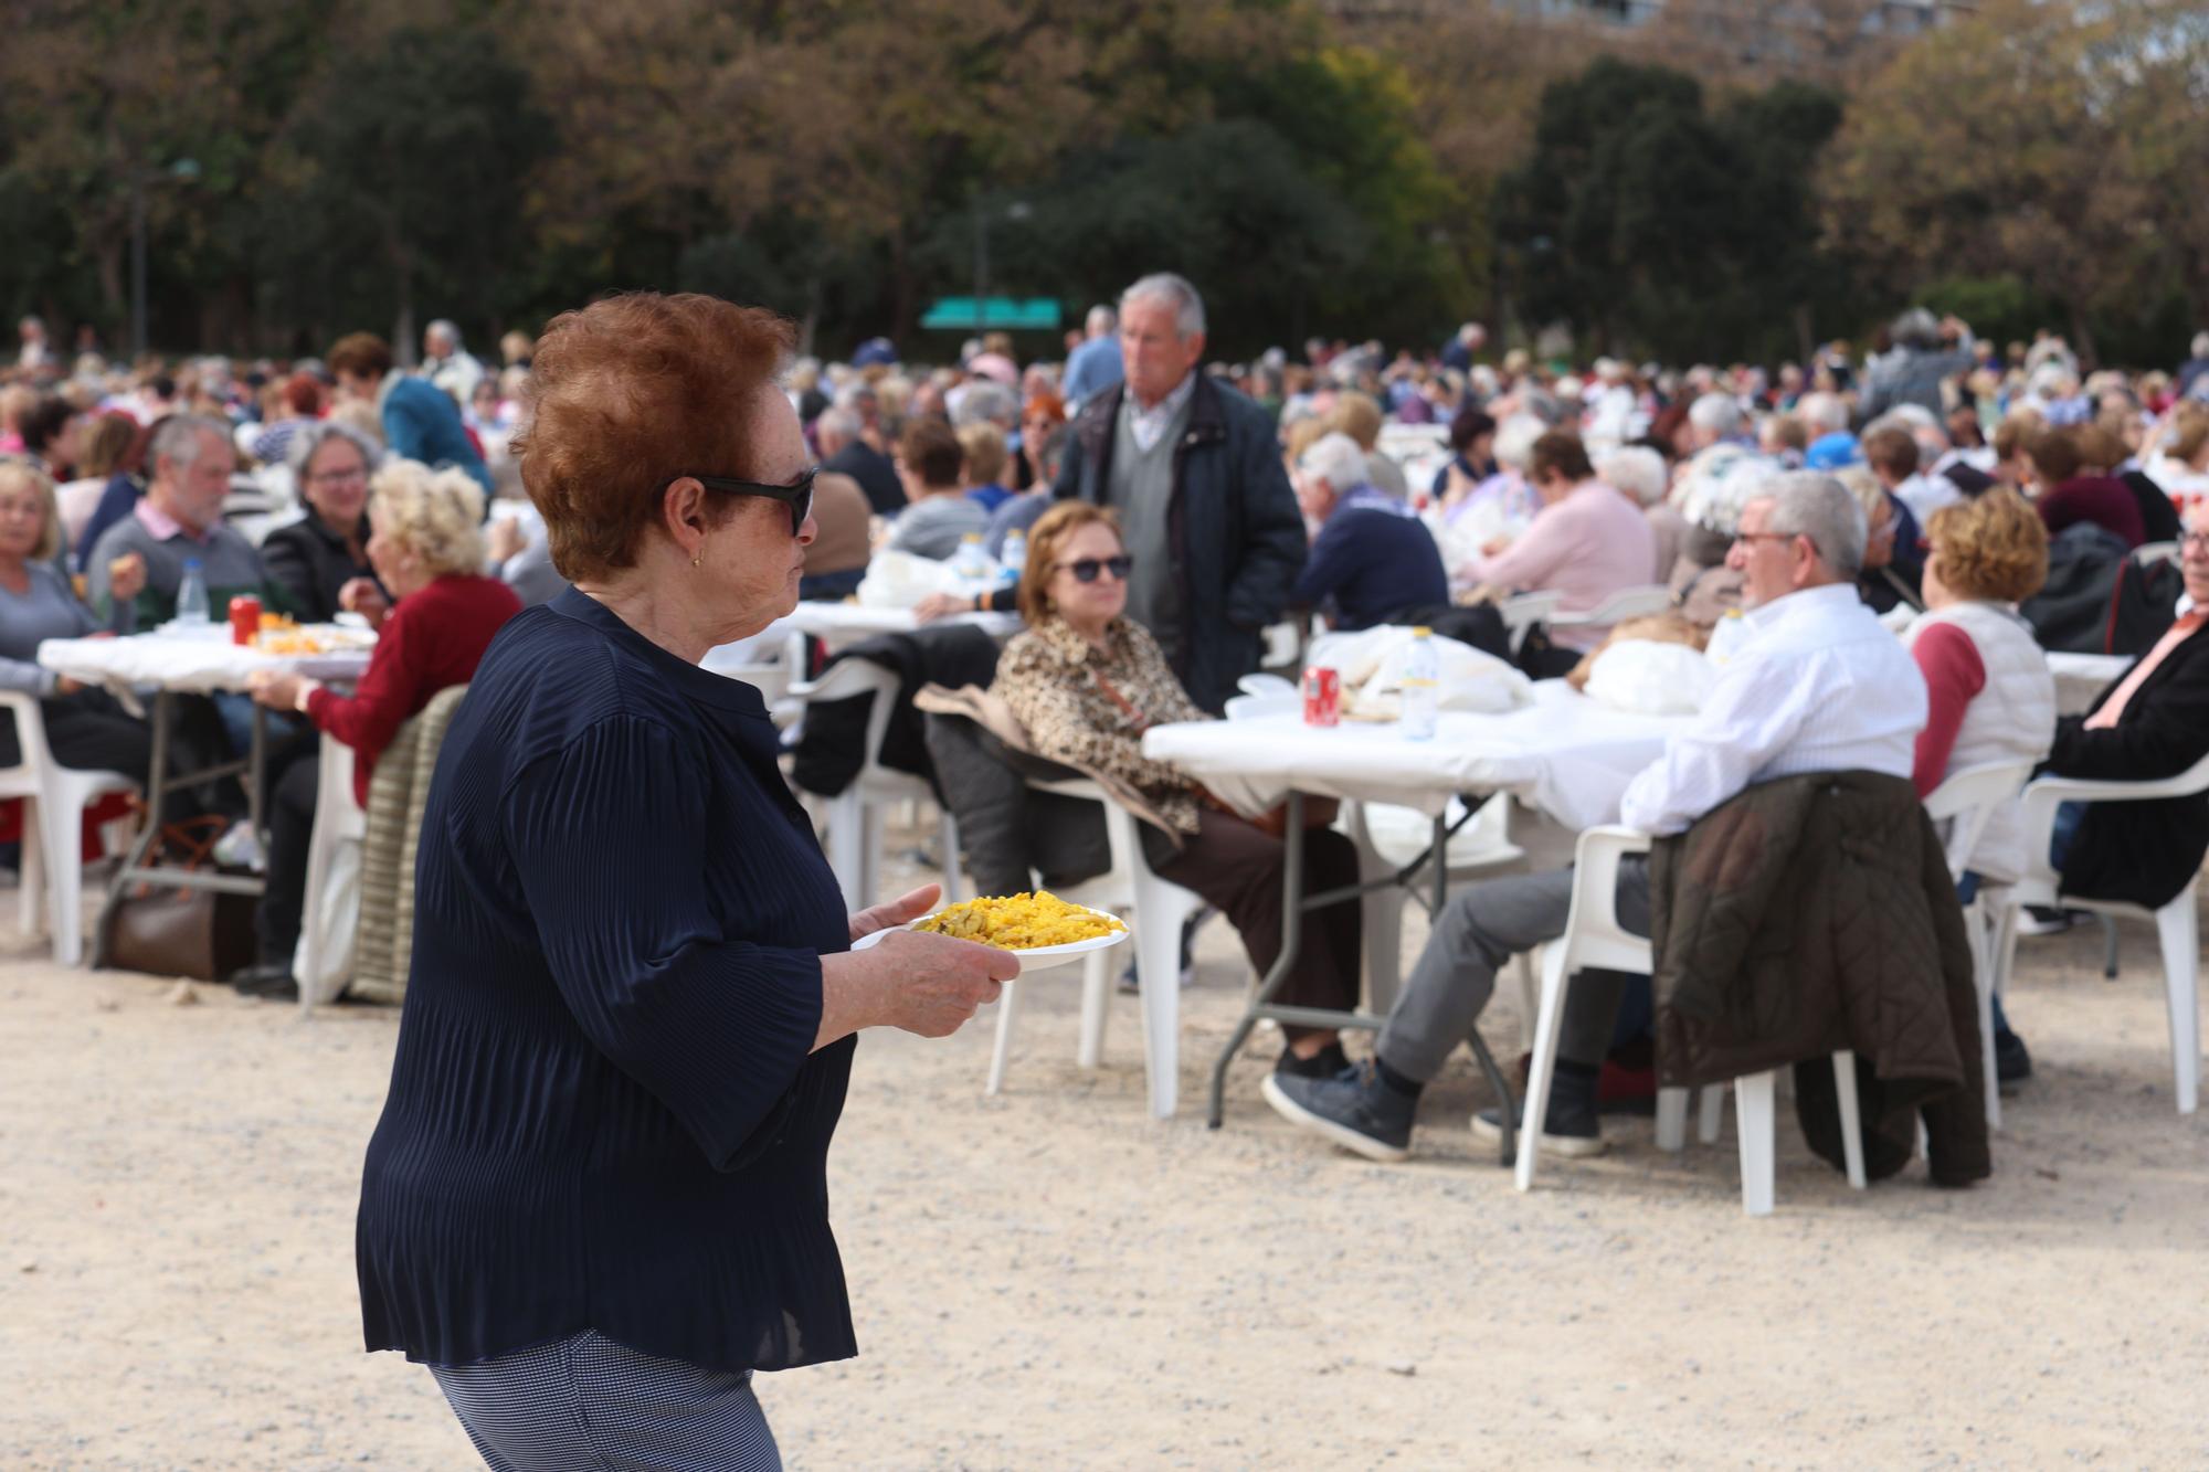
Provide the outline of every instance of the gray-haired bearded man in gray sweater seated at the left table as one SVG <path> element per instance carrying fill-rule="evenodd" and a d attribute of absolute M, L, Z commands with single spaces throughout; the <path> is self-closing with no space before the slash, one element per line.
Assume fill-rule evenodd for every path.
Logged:
<path fill-rule="evenodd" d="M 84 564 L 91 603 L 104 617 L 110 610 L 108 583 L 121 570 L 119 564 L 137 557 L 146 566 L 146 581 L 126 606 L 117 632 L 130 634 L 177 617 L 186 561 L 199 564 L 210 617 L 219 619 L 219 610 L 228 610 L 230 599 L 241 592 L 283 610 L 283 599 L 269 597 L 265 586 L 261 553 L 223 526 L 232 464 L 230 427 L 221 420 L 172 413 L 152 431 L 146 446 L 146 495 L 130 515 L 102 533 Z"/>

